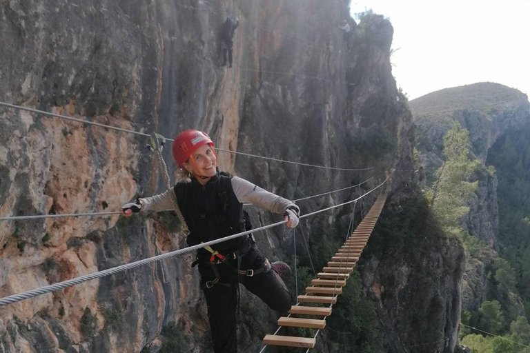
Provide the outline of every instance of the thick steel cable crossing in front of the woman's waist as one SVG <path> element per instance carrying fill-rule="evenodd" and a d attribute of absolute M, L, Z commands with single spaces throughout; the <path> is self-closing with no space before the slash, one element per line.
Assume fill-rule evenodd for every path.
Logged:
<path fill-rule="evenodd" d="M 361 196 L 361 198 L 371 194 L 371 192 L 373 192 L 374 190 L 377 190 L 378 188 L 382 187 L 382 185 L 384 185 L 384 183 L 386 183 L 386 181 L 388 179 L 389 179 L 389 177 L 386 177 L 386 179 L 382 183 L 380 183 L 380 185 L 377 185 L 375 188 L 373 188 L 369 192 L 366 192 L 365 194 L 363 194 Z M 315 212 L 304 214 L 303 216 L 300 216 L 300 219 L 304 219 L 304 218 L 306 218 L 308 216 L 313 216 L 315 214 L 319 214 L 319 213 L 322 213 L 322 212 L 326 212 L 328 210 L 332 210 L 333 208 L 338 208 L 340 206 L 347 205 L 349 203 L 353 203 L 353 202 L 357 201 L 358 199 L 360 199 L 360 198 L 357 198 L 357 199 L 352 200 L 352 201 L 347 201 L 347 202 L 344 202 L 344 203 L 340 203 L 339 205 L 331 206 L 329 208 L 324 208 L 323 210 L 317 210 Z M 119 265 L 119 266 L 117 266 L 115 268 L 109 268 L 107 270 L 94 272 L 92 274 L 86 274 L 84 276 L 80 276 L 80 277 L 77 277 L 75 279 L 70 279 L 68 281 L 63 281 L 63 282 L 55 283 L 55 284 L 52 284 L 52 285 L 46 285 L 46 286 L 44 286 L 42 288 L 37 288 L 35 290 L 29 290 L 29 291 L 22 292 L 22 293 L 19 293 L 19 294 L 12 294 L 10 296 L 6 296 L 6 297 L 0 299 L 0 307 L 3 307 L 3 306 L 8 305 L 8 304 L 12 304 L 12 303 L 17 303 L 17 302 L 23 301 L 25 299 L 30 299 L 30 298 L 33 298 L 35 296 L 40 296 L 40 295 L 43 295 L 43 294 L 46 294 L 46 293 L 55 292 L 57 290 L 62 290 L 64 288 L 72 287 L 73 285 L 78 285 L 80 283 L 92 281 L 94 279 L 99 279 L 99 278 L 104 277 L 104 276 L 110 276 L 110 274 L 117 274 L 119 272 L 124 272 L 126 270 L 131 270 L 133 268 L 137 268 L 137 267 L 139 267 L 141 265 L 147 265 L 147 264 L 153 263 L 155 261 L 161 261 L 161 260 L 173 257 L 173 256 L 177 256 L 177 255 L 188 254 L 189 252 L 193 252 L 195 250 L 198 250 L 198 249 L 201 249 L 201 248 L 205 248 L 206 246 L 222 243 L 222 242 L 228 241 L 230 239 L 236 239 L 239 236 L 245 236 L 245 235 L 251 234 L 253 232 L 259 232 L 259 231 L 266 230 L 266 229 L 269 229 L 269 228 L 277 227 L 278 225 L 282 225 L 282 224 L 285 224 L 285 223 L 287 223 L 287 221 L 280 221 L 280 222 L 277 222 L 277 223 L 264 225 L 263 227 L 260 227 L 260 228 L 256 228 L 256 229 L 253 229 L 253 230 L 248 230 L 246 232 L 237 233 L 237 234 L 233 234 L 233 235 L 230 235 L 230 236 L 225 236 L 224 238 L 215 239 L 213 241 L 208 241 L 206 243 L 193 245 L 193 246 L 190 246 L 188 248 L 184 248 L 184 249 L 180 249 L 180 250 L 175 250 L 173 252 L 168 252 L 167 254 L 161 254 L 161 255 L 158 255 L 158 256 L 153 256 L 153 257 L 150 257 L 148 259 L 142 259 L 142 260 L 139 260 L 139 261 L 135 261 L 133 263 L 128 263 L 126 265 Z"/>

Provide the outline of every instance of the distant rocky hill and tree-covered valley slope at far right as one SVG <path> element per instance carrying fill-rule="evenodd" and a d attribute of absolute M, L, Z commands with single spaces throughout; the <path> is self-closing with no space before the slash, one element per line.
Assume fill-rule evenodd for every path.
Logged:
<path fill-rule="evenodd" d="M 496 83 L 411 102 L 427 199 L 464 245 L 460 342 L 475 353 L 530 352 L 529 106 Z"/>

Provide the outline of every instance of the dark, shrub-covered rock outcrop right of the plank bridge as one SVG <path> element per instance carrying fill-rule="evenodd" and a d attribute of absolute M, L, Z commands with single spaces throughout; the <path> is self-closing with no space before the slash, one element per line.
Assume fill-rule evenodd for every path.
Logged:
<path fill-rule="evenodd" d="M 378 223 L 363 253 L 362 276 L 390 352 L 455 352 L 462 247 L 444 239 L 411 183 L 396 188 Z"/>

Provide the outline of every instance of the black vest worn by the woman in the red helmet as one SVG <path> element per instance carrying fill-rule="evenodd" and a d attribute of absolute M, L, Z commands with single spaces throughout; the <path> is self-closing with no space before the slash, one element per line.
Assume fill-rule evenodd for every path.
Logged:
<path fill-rule="evenodd" d="M 188 224 L 188 245 L 212 241 L 224 236 L 245 231 L 243 205 L 239 203 L 232 188 L 230 177 L 217 175 L 201 185 L 195 178 L 175 185 L 179 208 Z M 212 245 L 221 254 L 228 254 L 244 245 L 248 236 Z M 199 254 L 209 255 L 204 249 Z"/>

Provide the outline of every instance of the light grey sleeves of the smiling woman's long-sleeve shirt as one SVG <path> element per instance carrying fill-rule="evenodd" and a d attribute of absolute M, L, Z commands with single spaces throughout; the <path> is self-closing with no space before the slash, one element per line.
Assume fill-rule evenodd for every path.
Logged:
<path fill-rule="evenodd" d="M 289 205 L 293 205 L 291 201 L 263 190 L 245 179 L 233 177 L 231 181 L 235 196 L 240 203 L 252 203 L 273 213 L 284 213 Z M 175 192 L 174 187 L 163 194 L 140 199 L 144 203 L 141 212 L 173 210 L 172 192 Z"/>

